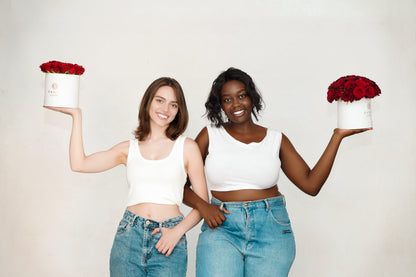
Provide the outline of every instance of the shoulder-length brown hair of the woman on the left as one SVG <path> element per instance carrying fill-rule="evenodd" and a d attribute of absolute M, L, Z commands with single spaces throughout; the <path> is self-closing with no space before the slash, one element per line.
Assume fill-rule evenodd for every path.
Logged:
<path fill-rule="evenodd" d="M 150 133 L 150 116 L 149 109 L 152 103 L 153 98 L 157 90 L 161 87 L 168 86 L 173 89 L 175 92 L 176 99 L 178 101 L 178 113 L 176 114 L 175 119 L 169 124 L 166 129 L 166 136 L 171 140 L 177 139 L 183 132 L 185 132 L 186 127 L 188 126 L 188 108 L 186 107 L 185 96 L 181 85 L 173 78 L 170 77 L 161 77 L 153 81 L 150 86 L 146 89 L 146 92 L 143 95 L 142 101 L 140 103 L 139 110 L 139 126 L 137 126 L 134 131 L 134 136 L 143 141 Z"/>

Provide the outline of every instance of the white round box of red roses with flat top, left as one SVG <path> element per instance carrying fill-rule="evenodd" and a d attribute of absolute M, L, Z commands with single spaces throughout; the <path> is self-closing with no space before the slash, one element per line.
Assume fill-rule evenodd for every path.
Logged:
<path fill-rule="evenodd" d="M 44 106 L 78 107 L 79 79 L 85 69 L 81 65 L 49 61 L 40 65 L 45 72 Z"/>

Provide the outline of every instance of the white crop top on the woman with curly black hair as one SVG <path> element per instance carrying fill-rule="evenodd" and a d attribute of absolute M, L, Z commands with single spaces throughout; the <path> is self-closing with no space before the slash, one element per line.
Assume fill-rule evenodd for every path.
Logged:
<path fill-rule="evenodd" d="M 267 189 L 277 184 L 282 133 L 267 129 L 261 142 L 246 144 L 223 127 L 207 126 L 207 130 L 205 175 L 211 190 Z"/>

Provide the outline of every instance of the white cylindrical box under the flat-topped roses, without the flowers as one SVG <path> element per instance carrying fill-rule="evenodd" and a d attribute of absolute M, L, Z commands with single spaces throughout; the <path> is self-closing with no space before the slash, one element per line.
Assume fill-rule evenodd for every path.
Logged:
<path fill-rule="evenodd" d="M 46 73 L 44 106 L 77 108 L 80 75 Z"/>

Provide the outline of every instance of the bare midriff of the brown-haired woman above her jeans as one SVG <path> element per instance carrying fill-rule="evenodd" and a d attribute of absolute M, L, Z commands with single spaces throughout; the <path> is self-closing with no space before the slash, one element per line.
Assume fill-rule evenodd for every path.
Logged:
<path fill-rule="evenodd" d="M 178 205 L 140 203 L 128 206 L 127 210 L 142 218 L 163 222 L 181 215 Z"/>

